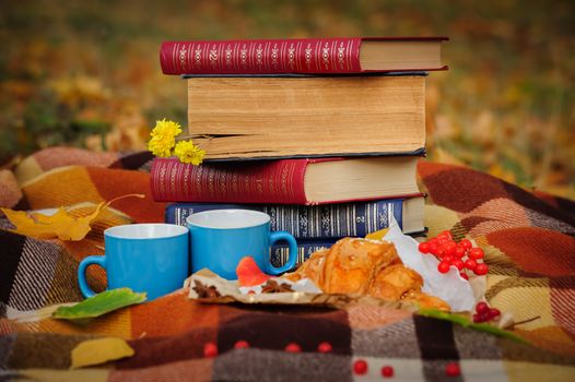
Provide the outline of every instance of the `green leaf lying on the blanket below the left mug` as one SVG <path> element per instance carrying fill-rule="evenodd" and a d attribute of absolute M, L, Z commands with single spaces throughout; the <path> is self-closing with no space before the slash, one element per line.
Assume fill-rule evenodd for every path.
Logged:
<path fill-rule="evenodd" d="M 72 307 L 60 307 L 52 318 L 62 320 L 85 320 L 106 314 L 114 310 L 145 301 L 145 293 L 137 294 L 130 288 L 106 290 L 86 298 Z"/>

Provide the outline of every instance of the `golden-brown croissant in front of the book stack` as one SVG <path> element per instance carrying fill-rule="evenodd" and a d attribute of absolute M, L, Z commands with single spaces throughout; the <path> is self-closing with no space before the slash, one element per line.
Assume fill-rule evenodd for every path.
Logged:
<path fill-rule="evenodd" d="M 423 278 L 408 268 L 390 242 L 343 238 L 330 249 L 314 252 L 284 277 L 312 279 L 328 294 L 368 295 L 389 301 L 411 301 L 422 308 L 448 311 L 441 298 L 421 291 Z"/>

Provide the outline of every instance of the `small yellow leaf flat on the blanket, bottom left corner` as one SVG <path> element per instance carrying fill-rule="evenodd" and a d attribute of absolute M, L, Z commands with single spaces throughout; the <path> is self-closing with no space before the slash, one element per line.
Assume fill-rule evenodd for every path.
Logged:
<path fill-rule="evenodd" d="M 121 338 L 89 339 L 78 344 L 72 349 L 72 365 L 70 369 L 101 365 L 133 355 L 133 349 Z"/>

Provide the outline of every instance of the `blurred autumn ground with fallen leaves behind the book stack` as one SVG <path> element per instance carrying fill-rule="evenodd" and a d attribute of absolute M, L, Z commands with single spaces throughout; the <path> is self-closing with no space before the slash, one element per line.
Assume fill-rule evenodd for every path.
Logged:
<path fill-rule="evenodd" d="M 3 1 L 0 166 L 46 146 L 144 150 L 186 126 L 166 39 L 446 35 L 427 85 L 429 157 L 575 199 L 575 2 Z"/>

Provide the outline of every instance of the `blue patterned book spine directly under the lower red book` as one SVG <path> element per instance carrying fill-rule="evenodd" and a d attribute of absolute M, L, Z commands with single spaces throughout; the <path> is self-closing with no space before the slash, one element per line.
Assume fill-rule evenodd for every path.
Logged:
<path fill-rule="evenodd" d="M 271 230 L 285 230 L 296 239 L 364 237 L 389 227 L 391 216 L 402 228 L 402 203 L 401 199 L 324 205 L 174 203 L 166 206 L 165 222 L 185 226 L 193 213 L 242 208 L 267 213 Z"/>

